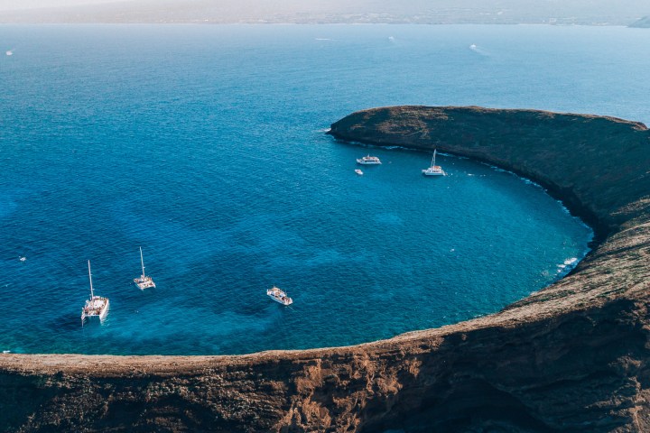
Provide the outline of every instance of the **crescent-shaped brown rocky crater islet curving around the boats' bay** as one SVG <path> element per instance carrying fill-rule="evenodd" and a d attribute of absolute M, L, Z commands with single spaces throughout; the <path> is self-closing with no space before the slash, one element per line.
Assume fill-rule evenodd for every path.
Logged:
<path fill-rule="evenodd" d="M 599 244 L 503 311 L 244 356 L 0 355 L 2 431 L 650 431 L 650 133 L 593 115 L 387 107 L 341 140 L 453 152 L 549 188 Z"/>

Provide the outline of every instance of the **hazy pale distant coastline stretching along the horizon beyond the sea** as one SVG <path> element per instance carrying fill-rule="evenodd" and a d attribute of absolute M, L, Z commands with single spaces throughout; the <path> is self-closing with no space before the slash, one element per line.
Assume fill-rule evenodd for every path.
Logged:
<path fill-rule="evenodd" d="M 628 25 L 646 0 L 0 0 L 0 23 L 420 23 Z"/>

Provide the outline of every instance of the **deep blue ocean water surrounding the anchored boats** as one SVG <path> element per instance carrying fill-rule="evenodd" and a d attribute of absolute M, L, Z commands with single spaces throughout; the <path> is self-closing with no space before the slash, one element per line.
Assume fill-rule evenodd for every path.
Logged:
<path fill-rule="evenodd" d="M 402 104 L 650 120 L 650 32 L 617 27 L 0 26 L 0 349 L 241 354 L 502 309 L 589 227 L 467 159 L 336 143 Z M 5 55 L 12 51 L 12 55 Z M 355 159 L 376 154 L 384 164 Z M 157 288 L 138 290 L 138 247 Z M 23 262 L 19 257 L 25 257 Z M 81 326 L 95 290 L 103 323 Z M 272 285 L 294 299 L 265 296 Z"/>

